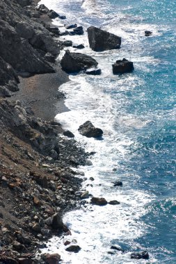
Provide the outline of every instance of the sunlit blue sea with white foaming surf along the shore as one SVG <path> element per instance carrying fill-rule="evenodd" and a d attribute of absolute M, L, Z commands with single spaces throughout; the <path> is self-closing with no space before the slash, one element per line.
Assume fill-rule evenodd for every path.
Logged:
<path fill-rule="evenodd" d="M 41 3 L 67 16 L 53 22 L 61 31 L 64 24 L 83 26 L 83 36 L 62 39 L 85 44 L 79 52 L 93 56 L 102 69 L 101 76 L 70 75 L 60 88 L 70 111 L 56 119 L 86 151 L 96 152 L 92 165 L 79 167 L 82 191 L 120 201 L 115 206 L 86 204 L 67 213 L 64 221 L 72 236 L 52 238 L 45 251 L 61 254 L 61 263 L 176 263 L 175 0 Z M 86 33 L 91 25 L 119 35 L 121 49 L 92 51 Z M 150 37 L 145 37 L 146 30 L 152 31 Z M 122 58 L 134 62 L 134 72 L 113 75 L 112 64 Z M 103 140 L 79 135 L 79 125 L 87 120 L 104 131 Z M 113 187 L 113 181 L 123 186 Z M 81 251 L 65 251 L 65 240 L 77 240 Z M 111 245 L 125 252 L 110 255 Z M 143 250 L 150 255 L 148 261 L 130 258 Z"/>

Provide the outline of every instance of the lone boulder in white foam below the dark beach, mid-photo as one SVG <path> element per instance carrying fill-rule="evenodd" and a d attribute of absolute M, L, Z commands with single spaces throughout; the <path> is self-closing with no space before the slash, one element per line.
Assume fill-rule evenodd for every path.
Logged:
<path fill-rule="evenodd" d="M 103 134 L 102 129 L 95 128 L 90 121 L 86 121 L 79 126 L 78 131 L 81 135 L 85 135 L 87 138 L 99 138 Z"/>

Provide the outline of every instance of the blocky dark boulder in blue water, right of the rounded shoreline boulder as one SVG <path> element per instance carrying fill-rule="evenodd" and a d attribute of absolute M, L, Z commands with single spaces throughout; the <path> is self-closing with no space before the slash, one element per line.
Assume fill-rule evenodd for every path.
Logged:
<path fill-rule="evenodd" d="M 113 74 L 125 74 L 134 70 L 134 64 L 123 58 L 122 60 L 116 60 L 113 65 Z"/>

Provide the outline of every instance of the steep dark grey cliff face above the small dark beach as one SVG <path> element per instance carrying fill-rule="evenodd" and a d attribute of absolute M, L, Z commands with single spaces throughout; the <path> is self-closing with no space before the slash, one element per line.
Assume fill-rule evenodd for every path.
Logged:
<path fill-rule="evenodd" d="M 54 72 L 45 54 L 57 56 L 58 44 L 51 33 L 31 16 L 31 0 L 0 1 L 0 96 L 17 90 L 17 74 Z M 16 74 L 16 73 L 17 74 Z"/>

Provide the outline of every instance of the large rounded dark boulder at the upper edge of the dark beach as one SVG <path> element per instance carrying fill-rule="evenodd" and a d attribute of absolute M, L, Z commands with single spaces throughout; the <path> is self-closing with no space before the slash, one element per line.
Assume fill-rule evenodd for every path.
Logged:
<path fill-rule="evenodd" d="M 93 66 L 96 67 L 97 64 L 97 61 L 88 55 L 71 53 L 68 50 L 65 51 L 65 55 L 61 60 L 63 70 L 68 73 L 80 72 Z"/>

